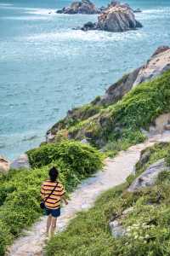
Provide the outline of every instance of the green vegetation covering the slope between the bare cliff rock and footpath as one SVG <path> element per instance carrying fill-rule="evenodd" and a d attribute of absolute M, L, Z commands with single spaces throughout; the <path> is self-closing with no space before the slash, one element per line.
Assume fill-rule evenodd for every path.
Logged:
<path fill-rule="evenodd" d="M 92 108 L 93 105 L 91 111 Z M 78 111 L 80 116 L 81 108 Z M 169 111 L 170 71 L 167 71 L 158 79 L 133 88 L 120 102 L 98 109 L 94 116 L 72 122 L 69 119 L 69 124 L 61 125 L 57 130 L 60 136 L 63 132 L 64 137 L 86 137 L 90 143 L 115 154 L 144 141 L 141 128 L 148 129 L 157 116 Z"/>

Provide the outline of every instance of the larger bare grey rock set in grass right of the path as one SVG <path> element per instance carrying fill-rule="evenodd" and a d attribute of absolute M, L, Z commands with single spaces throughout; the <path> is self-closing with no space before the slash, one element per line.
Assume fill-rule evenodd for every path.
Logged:
<path fill-rule="evenodd" d="M 164 159 L 156 161 L 156 163 L 150 165 L 146 171 L 134 180 L 127 191 L 134 192 L 138 189 L 153 185 L 156 182 L 158 174 L 168 170 L 169 168 L 166 166 Z"/>

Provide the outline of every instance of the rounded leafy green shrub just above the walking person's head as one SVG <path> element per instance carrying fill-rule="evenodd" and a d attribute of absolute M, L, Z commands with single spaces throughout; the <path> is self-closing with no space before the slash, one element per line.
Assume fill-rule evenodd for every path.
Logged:
<path fill-rule="evenodd" d="M 27 152 L 31 166 L 41 167 L 52 161 L 61 160 L 74 172 L 89 175 L 101 168 L 101 154 L 87 144 L 75 141 L 64 141 L 58 144 L 47 144 Z"/>

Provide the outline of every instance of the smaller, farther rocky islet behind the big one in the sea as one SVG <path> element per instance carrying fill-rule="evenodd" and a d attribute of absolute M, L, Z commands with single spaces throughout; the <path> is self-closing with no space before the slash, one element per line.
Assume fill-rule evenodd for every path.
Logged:
<path fill-rule="evenodd" d="M 82 0 L 80 2 L 73 2 L 71 6 L 64 7 L 63 9 L 59 9 L 57 14 L 68 14 L 68 15 L 94 15 L 99 14 L 101 11 L 100 9 L 96 8 L 94 3 L 90 2 L 89 0 Z"/>

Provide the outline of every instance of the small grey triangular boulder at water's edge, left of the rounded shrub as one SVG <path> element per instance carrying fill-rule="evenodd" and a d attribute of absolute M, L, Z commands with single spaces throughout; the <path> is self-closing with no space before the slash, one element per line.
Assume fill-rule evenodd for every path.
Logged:
<path fill-rule="evenodd" d="M 28 155 L 27 154 L 20 154 L 20 157 L 18 159 L 14 160 L 10 164 L 10 168 L 15 169 L 15 170 L 30 169 L 31 166 L 30 166 L 30 163 L 29 163 Z"/>

